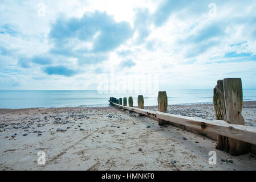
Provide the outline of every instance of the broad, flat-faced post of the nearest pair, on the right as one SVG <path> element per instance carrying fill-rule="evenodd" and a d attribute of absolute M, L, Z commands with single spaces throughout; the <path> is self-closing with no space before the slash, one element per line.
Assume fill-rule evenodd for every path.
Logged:
<path fill-rule="evenodd" d="M 226 121 L 230 124 L 245 125 L 245 119 L 242 116 L 243 91 L 241 78 L 224 78 L 223 82 Z M 246 154 L 248 150 L 248 143 L 229 138 L 229 152 L 231 155 Z"/>

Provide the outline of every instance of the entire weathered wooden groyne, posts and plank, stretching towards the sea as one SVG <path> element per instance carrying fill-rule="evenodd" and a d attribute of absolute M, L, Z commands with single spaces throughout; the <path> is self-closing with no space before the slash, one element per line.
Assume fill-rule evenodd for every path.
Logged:
<path fill-rule="evenodd" d="M 115 97 L 110 97 L 109 103 L 113 106 L 157 119 L 159 125 L 171 124 L 185 130 L 204 135 L 217 140 L 217 150 L 229 152 L 233 156 L 256 153 L 256 129 L 245 126 L 242 117 L 242 82 L 241 78 L 224 78 L 218 80 L 213 90 L 213 105 L 216 120 L 186 117 L 166 113 L 167 94 L 159 92 L 157 97 L 158 111 L 144 109 L 143 96 L 138 96 L 138 106 L 133 107 L 133 99 L 124 97 L 124 105 L 119 104 Z"/>

